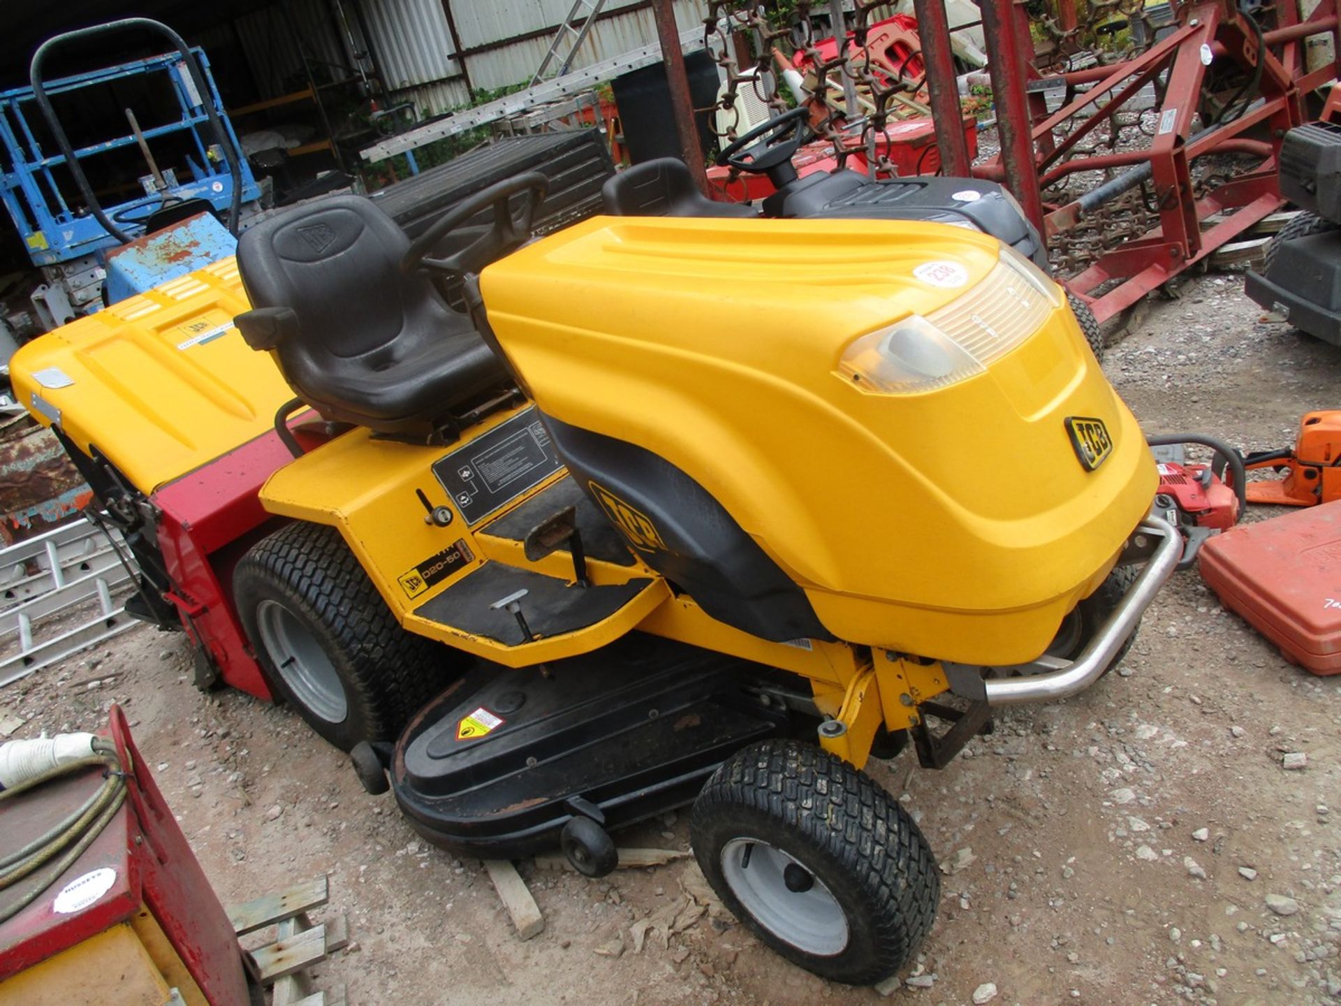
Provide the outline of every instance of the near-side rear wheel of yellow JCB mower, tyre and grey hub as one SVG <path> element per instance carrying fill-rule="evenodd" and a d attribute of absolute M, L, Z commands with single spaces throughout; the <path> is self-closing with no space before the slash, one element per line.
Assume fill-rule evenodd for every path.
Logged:
<path fill-rule="evenodd" d="M 394 740 L 465 661 L 397 624 L 334 527 L 295 522 L 257 542 L 233 600 L 271 691 L 342 751 Z"/>

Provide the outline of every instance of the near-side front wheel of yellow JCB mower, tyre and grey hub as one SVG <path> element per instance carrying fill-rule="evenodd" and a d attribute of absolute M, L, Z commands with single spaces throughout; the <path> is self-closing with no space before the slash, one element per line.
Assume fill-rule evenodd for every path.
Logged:
<path fill-rule="evenodd" d="M 874 779 L 813 744 L 738 751 L 699 794 L 689 834 L 736 917 L 823 978 L 890 976 L 936 917 L 940 876 L 917 825 Z"/>

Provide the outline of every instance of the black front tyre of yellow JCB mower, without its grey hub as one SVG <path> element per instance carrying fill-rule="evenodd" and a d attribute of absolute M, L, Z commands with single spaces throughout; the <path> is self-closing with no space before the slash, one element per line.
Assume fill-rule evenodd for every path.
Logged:
<path fill-rule="evenodd" d="M 738 751 L 699 794 L 689 829 L 699 867 L 723 903 L 764 944 L 823 978 L 889 978 L 936 919 L 940 875 L 921 830 L 874 779 L 814 744 L 774 739 Z M 815 956 L 760 926 L 721 871 L 732 838 L 767 841 L 813 869 L 843 905 L 848 947 Z"/>

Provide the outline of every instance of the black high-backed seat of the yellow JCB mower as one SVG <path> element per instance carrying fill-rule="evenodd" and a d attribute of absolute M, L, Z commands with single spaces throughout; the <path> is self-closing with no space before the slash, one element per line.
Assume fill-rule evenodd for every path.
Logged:
<path fill-rule="evenodd" d="M 508 376 L 426 275 L 401 271 L 409 244 L 362 196 L 271 217 L 237 243 L 253 310 L 236 323 L 326 418 L 420 437 Z"/>

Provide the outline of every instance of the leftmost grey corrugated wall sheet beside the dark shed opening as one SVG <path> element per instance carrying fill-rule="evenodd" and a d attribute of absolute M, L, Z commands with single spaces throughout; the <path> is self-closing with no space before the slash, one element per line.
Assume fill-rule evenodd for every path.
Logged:
<path fill-rule="evenodd" d="M 362 9 L 388 90 L 436 83 L 461 72 L 443 0 L 363 0 Z M 465 101 L 468 97 L 460 103 Z"/>

